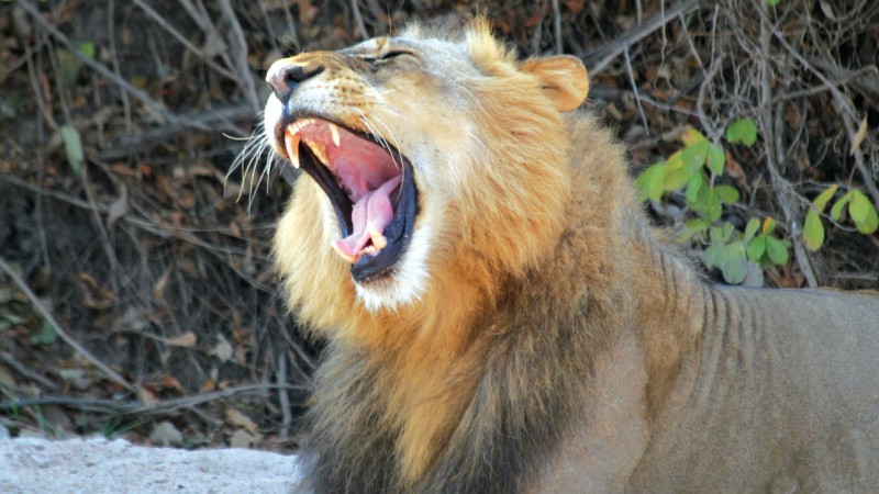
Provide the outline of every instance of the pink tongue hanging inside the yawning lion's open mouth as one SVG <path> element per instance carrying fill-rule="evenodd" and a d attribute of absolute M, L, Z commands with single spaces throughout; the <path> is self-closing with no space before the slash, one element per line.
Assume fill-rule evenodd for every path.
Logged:
<path fill-rule="evenodd" d="M 333 248 L 351 263 L 357 262 L 364 254 L 376 255 L 388 245 L 385 228 L 393 220 L 393 205 L 390 194 L 400 184 L 402 176 L 393 177 L 376 190 L 357 200 L 352 212 L 354 233 L 340 240 L 333 240 Z M 372 240 L 374 248 L 367 244 Z M 366 250 L 365 250 L 366 249 Z"/>

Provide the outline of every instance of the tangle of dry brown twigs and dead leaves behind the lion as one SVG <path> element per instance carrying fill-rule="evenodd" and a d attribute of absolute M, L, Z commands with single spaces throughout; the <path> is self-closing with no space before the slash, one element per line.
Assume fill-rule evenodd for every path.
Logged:
<path fill-rule="evenodd" d="M 720 142 L 753 119 L 756 146 L 724 144 L 742 192 L 725 217 L 772 216 L 793 240 L 768 284 L 879 287 L 876 234 L 827 222 L 813 254 L 798 226 L 832 183 L 879 206 L 879 2 L 479 3 L 0 2 L 0 437 L 294 447 L 320 341 L 299 336 L 270 268 L 290 188 L 226 173 L 272 60 L 409 20 L 481 13 L 522 56 L 580 57 L 587 106 L 628 145 L 633 173 L 687 126 Z M 675 225 L 683 204 L 650 211 Z"/>

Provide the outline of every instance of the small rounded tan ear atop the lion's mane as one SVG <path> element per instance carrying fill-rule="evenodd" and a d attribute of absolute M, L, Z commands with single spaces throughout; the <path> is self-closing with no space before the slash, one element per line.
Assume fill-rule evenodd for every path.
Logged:
<path fill-rule="evenodd" d="M 522 63 L 522 71 L 537 76 L 543 89 L 556 103 L 556 110 L 567 112 L 577 109 L 589 92 L 589 78 L 579 58 L 559 55 L 532 58 Z"/>

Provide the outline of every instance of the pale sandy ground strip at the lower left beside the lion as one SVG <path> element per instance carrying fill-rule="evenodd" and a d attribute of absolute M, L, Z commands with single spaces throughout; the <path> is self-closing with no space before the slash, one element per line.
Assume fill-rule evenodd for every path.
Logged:
<path fill-rule="evenodd" d="M 291 492 L 296 457 L 247 449 L 146 448 L 124 439 L 0 439 L 0 492 Z"/>

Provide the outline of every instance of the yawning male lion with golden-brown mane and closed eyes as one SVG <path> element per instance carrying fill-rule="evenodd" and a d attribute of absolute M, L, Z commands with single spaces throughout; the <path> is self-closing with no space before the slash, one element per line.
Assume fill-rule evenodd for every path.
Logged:
<path fill-rule="evenodd" d="M 713 285 L 650 225 L 570 56 L 486 21 L 275 63 L 274 244 L 327 341 L 319 493 L 867 492 L 879 294 Z"/>

